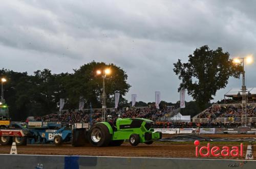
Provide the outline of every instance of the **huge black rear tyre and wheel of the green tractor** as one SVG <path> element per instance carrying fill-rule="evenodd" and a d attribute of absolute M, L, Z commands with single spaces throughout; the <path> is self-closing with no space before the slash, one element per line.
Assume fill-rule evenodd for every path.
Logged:
<path fill-rule="evenodd" d="M 95 147 L 108 146 L 111 140 L 108 127 L 102 123 L 95 124 L 88 132 L 88 140 Z"/>

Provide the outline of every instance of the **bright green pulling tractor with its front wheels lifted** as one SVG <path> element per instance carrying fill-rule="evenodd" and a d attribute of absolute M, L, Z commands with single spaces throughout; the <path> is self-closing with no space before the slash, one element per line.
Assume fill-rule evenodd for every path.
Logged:
<path fill-rule="evenodd" d="M 162 133 L 153 129 L 153 121 L 139 118 L 118 118 L 114 124 L 96 123 L 88 132 L 88 140 L 95 147 L 120 146 L 125 139 L 129 139 L 132 146 L 139 143 L 150 145 L 161 138 Z"/>

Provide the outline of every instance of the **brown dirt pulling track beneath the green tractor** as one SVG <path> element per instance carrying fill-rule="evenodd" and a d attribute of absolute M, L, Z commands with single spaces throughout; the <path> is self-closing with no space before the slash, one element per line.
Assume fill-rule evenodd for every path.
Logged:
<path fill-rule="evenodd" d="M 164 135 L 170 137 L 173 135 Z M 205 137 L 255 137 L 256 135 L 242 134 L 218 134 L 218 135 L 200 135 Z M 203 146 L 206 144 L 201 144 Z M 239 146 L 238 144 L 218 144 L 211 143 L 212 146 Z M 11 146 L 0 146 L 0 154 L 9 154 Z M 244 144 L 244 156 L 246 154 L 247 144 Z M 256 150 L 256 145 L 254 146 Z M 18 154 L 43 154 L 43 155 L 90 155 L 90 156 L 124 156 L 124 157 L 186 157 L 195 158 L 195 146 L 193 143 L 154 143 L 152 145 L 139 144 L 136 147 L 129 143 L 124 143 L 119 147 L 71 147 L 63 145 L 60 147 L 54 145 L 33 145 L 33 146 L 18 146 Z M 253 152 L 256 157 L 256 152 Z M 212 157 L 210 157 L 212 158 Z M 232 158 L 234 159 L 234 158 Z"/>

